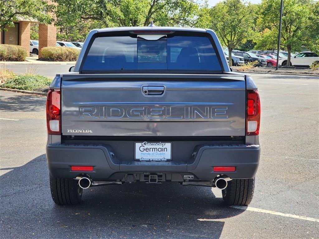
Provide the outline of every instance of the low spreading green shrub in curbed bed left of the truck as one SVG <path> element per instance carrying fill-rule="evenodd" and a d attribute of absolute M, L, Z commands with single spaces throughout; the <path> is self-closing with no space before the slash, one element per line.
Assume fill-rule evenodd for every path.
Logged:
<path fill-rule="evenodd" d="M 1 87 L 25 90 L 25 91 L 44 91 L 51 83 L 51 79 L 41 75 L 16 75 L 7 79 Z"/>

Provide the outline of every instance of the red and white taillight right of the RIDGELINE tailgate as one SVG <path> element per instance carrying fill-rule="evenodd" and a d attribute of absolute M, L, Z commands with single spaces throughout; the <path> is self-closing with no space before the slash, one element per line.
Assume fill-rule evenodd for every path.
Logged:
<path fill-rule="evenodd" d="M 260 99 L 257 90 L 247 90 L 246 135 L 258 135 L 260 126 Z"/>

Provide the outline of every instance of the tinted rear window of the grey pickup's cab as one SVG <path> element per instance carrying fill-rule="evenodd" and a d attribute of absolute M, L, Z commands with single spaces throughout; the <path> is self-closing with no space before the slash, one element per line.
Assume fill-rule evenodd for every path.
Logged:
<path fill-rule="evenodd" d="M 97 37 L 82 70 L 221 70 L 207 37 L 162 35 L 148 39 L 143 35 Z"/>

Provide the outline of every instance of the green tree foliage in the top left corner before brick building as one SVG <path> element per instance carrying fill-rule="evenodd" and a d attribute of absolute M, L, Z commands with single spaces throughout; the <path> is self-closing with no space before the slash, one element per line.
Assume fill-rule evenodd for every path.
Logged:
<path fill-rule="evenodd" d="M 41 23 L 51 23 L 48 14 L 55 6 L 44 0 L 1 0 L 0 1 L 0 30 L 5 26 L 14 26 L 13 22 L 19 18 L 36 19 Z"/>

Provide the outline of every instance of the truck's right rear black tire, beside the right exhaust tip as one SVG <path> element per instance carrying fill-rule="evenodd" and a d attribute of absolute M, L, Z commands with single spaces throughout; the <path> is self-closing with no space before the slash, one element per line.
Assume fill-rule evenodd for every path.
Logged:
<path fill-rule="evenodd" d="M 248 205 L 253 199 L 255 179 L 233 179 L 228 181 L 222 190 L 224 202 L 227 205 Z"/>

